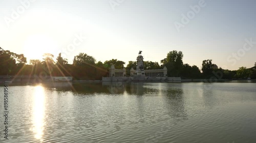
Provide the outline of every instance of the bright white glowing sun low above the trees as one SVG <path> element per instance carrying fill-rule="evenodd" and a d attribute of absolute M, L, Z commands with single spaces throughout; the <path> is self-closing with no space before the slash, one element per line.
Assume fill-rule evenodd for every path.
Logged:
<path fill-rule="evenodd" d="M 58 46 L 56 42 L 46 35 L 32 35 L 27 38 L 24 45 L 24 55 L 28 63 L 31 59 L 42 60 L 44 53 L 56 54 Z"/>

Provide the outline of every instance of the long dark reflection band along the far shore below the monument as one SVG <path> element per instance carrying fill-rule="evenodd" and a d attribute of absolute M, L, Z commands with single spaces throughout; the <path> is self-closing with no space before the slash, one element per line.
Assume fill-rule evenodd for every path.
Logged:
<path fill-rule="evenodd" d="M 144 87 L 143 82 L 86 82 L 86 83 L 72 83 L 72 82 L 49 82 L 42 84 L 50 91 L 67 92 L 72 91 L 74 93 L 81 94 L 128 94 L 145 95 L 152 94 L 158 95 L 160 90 L 150 87 Z"/>

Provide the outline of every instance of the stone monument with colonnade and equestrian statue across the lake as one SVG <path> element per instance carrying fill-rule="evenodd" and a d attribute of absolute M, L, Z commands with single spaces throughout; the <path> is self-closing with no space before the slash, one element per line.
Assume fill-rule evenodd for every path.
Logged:
<path fill-rule="evenodd" d="M 181 81 L 180 77 L 167 77 L 167 68 L 144 70 L 144 58 L 139 51 L 137 56 L 136 70 L 131 68 L 130 77 L 126 76 L 126 69 L 115 69 L 112 65 L 109 72 L 109 77 L 102 77 L 102 81 Z"/>

